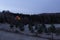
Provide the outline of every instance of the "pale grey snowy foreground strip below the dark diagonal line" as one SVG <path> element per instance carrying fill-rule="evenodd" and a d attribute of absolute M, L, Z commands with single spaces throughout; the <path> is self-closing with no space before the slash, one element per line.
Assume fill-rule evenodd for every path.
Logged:
<path fill-rule="evenodd" d="M 48 40 L 48 39 L 30 37 L 30 36 L 0 31 L 0 40 Z"/>

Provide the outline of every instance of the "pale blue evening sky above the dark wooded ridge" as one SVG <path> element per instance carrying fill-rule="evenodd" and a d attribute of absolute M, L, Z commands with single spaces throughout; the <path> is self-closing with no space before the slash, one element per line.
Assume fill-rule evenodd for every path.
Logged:
<path fill-rule="evenodd" d="M 0 11 L 37 14 L 60 12 L 60 0 L 0 0 Z"/>

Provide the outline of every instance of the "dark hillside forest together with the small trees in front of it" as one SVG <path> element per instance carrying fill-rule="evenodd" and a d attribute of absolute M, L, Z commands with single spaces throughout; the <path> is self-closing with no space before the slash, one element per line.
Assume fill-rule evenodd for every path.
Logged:
<path fill-rule="evenodd" d="M 21 20 L 15 20 L 16 16 L 19 16 Z M 42 13 L 37 15 L 27 15 L 22 13 L 12 13 L 10 11 L 2 11 L 0 12 L 0 23 L 10 24 L 11 29 L 13 29 L 15 25 L 16 28 L 20 29 L 20 31 L 24 31 L 24 25 L 28 24 L 29 31 L 31 33 L 35 32 L 36 34 L 41 34 L 44 32 L 52 33 L 53 36 L 53 33 L 60 33 L 53 25 L 55 23 L 60 23 L 60 13 Z M 45 24 L 51 24 L 51 26 L 47 28 Z M 33 26 L 35 28 L 33 28 Z"/>

